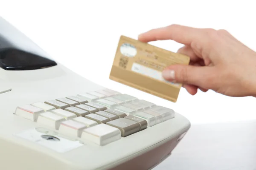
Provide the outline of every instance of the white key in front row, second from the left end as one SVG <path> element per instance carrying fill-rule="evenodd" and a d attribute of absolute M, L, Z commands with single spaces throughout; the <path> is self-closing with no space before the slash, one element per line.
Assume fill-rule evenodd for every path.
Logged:
<path fill-rule="evenodd" d="M 51 112 L 45 112 L 39 114 L 37 123 L 58 130 L 61 122 L 65 120 L 66 119 L 62 116 L 58 116 Z"/>

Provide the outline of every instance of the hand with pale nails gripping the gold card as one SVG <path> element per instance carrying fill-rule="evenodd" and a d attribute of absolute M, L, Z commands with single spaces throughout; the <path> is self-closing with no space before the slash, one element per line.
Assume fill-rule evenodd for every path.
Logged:
<path fill-rule="evenodd" d="M 198 88 L 227 96 L 256 96 L 256 53 L 225 30 L 171 25 L 139 35 L 142 42 L 174 40 L 189 65 L 170 65 L 163 77 L 195 95 Z"/>

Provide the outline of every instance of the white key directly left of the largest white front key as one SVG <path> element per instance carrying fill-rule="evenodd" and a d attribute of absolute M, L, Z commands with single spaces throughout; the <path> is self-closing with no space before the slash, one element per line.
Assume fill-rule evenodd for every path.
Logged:
<path fill-rule="evenodd" d="M 67 120 L 64 122 L 61 122 L 59 132 L 72 137 L 80 137 L 82 134 L 82 130 L 87 128 L 86 125 L 76 122 L 74 120 Z"/>

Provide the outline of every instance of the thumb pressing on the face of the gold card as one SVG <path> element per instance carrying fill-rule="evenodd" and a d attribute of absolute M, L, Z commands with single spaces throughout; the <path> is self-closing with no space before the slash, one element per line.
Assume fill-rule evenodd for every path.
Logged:
<path fill-rule="evenodd" d="M 163 71 L 163 78 L 171 82 L 208 88 L 215 75 L 212 69 L 213 67 L 208 66 L 171 65 Z"/>

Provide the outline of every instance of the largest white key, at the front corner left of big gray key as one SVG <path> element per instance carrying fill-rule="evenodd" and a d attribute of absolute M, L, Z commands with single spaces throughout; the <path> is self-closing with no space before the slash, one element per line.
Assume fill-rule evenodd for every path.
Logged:
<path fill-rule="evenodd" d="M 100 146 L 104 146 L 111 142 L 121 139 L 121 131 L 105 124 L 99 124 L 83 130 L 81 139 L 90 141 Z"/>

